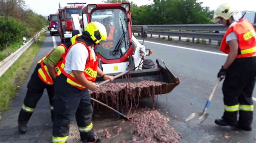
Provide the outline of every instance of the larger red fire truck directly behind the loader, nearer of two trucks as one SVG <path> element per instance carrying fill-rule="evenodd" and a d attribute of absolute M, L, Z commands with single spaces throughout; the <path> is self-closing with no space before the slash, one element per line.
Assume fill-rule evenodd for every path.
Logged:
<path fill-rule="evenodd" d="M 70 6 L 64 6 L 63 8 L 59 8 L 59 33 L 61 37 L 61 42 L 70 42 L 70 38 L 72 38 L 72 21 L 71 15 L 78 14 L 80 19 L 82 19 L 82 7 L 83 4 L 86 3 L 67 3 Z M 59 7 L 61 7 L 59 5 Z"/>

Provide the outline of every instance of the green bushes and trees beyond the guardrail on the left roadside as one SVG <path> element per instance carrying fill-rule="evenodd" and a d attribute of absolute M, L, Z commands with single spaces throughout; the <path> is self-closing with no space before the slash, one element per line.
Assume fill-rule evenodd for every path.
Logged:
<path fill-rule="evenodd" d="M 34 13 L 24 0 L 0 0 L 0 50 L 31 37 L 47 24 L 47 19 Z"/>

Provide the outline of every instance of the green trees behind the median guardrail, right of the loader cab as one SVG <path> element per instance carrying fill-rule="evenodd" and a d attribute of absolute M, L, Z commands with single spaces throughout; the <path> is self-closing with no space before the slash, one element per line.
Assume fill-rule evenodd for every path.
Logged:
<path fill-rule="evenodd" d="M 209 7 L 203 7 L 203 2 L 198 0 L 154 0 L 152 4 L 142 6 L 130 3 L 132 24 L 207 24 L 211 23 L 214 13 Z"/>

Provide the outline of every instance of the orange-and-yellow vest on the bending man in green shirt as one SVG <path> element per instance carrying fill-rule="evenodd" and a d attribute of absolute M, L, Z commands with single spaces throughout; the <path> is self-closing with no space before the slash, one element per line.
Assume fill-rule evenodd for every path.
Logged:
<path fill-rule="evenodd" d="M 58 46 L 63 46 L 65 48 L 65 51 L 67 51 L 67 47 L 64 44 L 59 44 Z M 45 57 L 43 57 L 40 61 L 38 61 L 38 63 L 40 63 L 40 65 L 41 65 L 41 67 L 37 70 L 37 74 L 38 74 L 39 78 L 45 84 L 48 84 L 48 85 L 52 85 L 53 80 L 48 72 L 48 68 L 47 68 L 46 64 L 43 63 L 43 60 L 46 59 L 52 53 L 52 51 L 53 50 L 51 50 Z M 54 65 L 56 76 L 59 76 L 61 74 L 61 71 L 60 71 L 61 63 L 62 63 L 62 59 L 56 65 Z"/>

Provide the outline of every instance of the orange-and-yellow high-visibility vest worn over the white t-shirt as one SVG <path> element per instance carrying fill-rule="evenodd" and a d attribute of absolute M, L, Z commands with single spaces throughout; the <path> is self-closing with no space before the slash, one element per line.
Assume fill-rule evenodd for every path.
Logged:
<path fill-rule="evenodd" d="M 83 45 L 85 45 L 85 47 L 87 48 L 88 50 L 88 59 L 87 59 L 87 62 L 86 62 L 86 65 L 85 65 L 85 71 L 83 72 L 84 75 L 85 75 L 85 78 L 87 80 L 89 80 L 90 82 L 94 82 L 96 80 L 96 77 L 97 77 L 97 69 L 98 69 L 98 60 L 97 60 L 97 57 L 95 55 L 95 58 L 96 60 L 94 61 L 93 60 L 93 56 L 92 56 L 92 53 L 91 53 L 91 50 L 90 48 L 87 46 L 87 44 L 85 44 L 85 42 L 82 42 L 82 41 L 77 41 L 76 43 L 81 43 Z M 76 44 L 75 43 L 75 44 Z M 75 45 L 73 44 L 72 46 L 70 46 L 69 50 Z M 69 51 L 68 50 L 68 51 Z M 67 53 L 63 54 L 63 61 L 62 61 L 62 64 L 61 64 L 61 73 L 64 74 L 66 77 L 67 77 L 67 83 L 71 86 L 74 86 L 80 90 L 83 90 L 86 88 L 85 85 L 81 84 L 80 82 L 78 82 L 78 80 L 76 80 L 75 76 L 72 74 L 72 72 L 70 74 L 67 74 L 64 70 L 64 67 L 65 67 L 65 57 L 67 56 Z"/>

